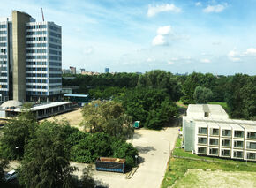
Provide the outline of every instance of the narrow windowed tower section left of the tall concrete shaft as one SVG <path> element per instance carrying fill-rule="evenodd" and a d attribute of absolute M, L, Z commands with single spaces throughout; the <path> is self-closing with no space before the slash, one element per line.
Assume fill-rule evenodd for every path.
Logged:
<path fill-rule="evenodd" d="M 0 18 L 0 101 L 12 98 L 12 26 L 10 18 Z M 10 96 L 11 95 L 11 96 Z"/>

